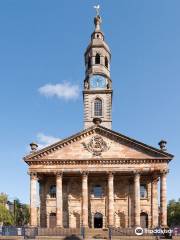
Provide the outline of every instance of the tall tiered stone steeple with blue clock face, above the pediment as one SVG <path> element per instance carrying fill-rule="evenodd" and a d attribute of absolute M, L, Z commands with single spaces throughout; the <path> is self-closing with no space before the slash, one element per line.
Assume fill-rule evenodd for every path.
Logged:
<path fill-rule="evenodd" d="M 85 80 L 83 90 L 84 128 L 94 125 L 98 118 L 101 125 L 112 125 L 112 81 L 110 78 L 111 53 L 101 31 L 102 19 L 97 12 L 94 18 L 95 30 L 91 35 L 85 58 Z"/>

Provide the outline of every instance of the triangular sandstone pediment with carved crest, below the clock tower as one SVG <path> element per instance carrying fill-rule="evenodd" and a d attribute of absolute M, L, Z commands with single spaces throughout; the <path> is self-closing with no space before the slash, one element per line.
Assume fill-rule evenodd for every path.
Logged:
<path fill-rule="evenodd" d="M 167 159 L 173 155 L 102 126 L 94 126 L 27 155 L 26 162 L 39 159 Z"/>

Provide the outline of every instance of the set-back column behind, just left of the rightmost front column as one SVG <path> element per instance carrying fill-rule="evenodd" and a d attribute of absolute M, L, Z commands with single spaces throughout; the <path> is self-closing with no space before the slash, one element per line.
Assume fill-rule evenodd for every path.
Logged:
<path fill-rule="evenodd" d="M 158 177 L 153 176 L 152 183 L 152 194 L 151 194 L 151 209 L 152 209 L 152 227 L 158 226 Z"/>

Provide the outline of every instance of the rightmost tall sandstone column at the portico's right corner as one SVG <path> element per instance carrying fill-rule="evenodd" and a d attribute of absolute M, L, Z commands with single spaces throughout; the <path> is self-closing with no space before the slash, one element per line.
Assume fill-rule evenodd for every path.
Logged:
<path fill-rule="evenodd" d="M 167 226 L 166 175 L 167 171 L 163 171 L 160 183 L 160 223 L 163 227 Z"/>

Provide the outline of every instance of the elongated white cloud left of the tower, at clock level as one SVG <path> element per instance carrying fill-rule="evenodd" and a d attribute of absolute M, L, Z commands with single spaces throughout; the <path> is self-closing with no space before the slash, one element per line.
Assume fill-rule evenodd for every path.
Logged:
<path fill-rule="evenodd" d="M 46 97 L 58 97 L 66 100 L 76 99 L 79 96 L 79 86 L 69 82 L 58 84 L 46 84 L 39 89 L 40 94 Z"/>

